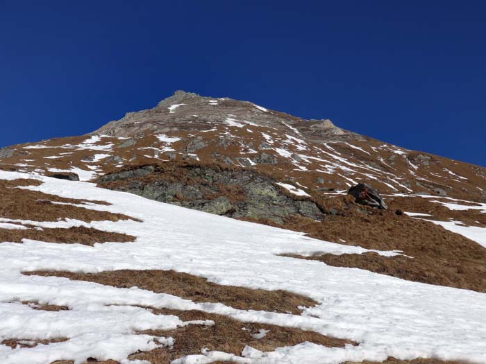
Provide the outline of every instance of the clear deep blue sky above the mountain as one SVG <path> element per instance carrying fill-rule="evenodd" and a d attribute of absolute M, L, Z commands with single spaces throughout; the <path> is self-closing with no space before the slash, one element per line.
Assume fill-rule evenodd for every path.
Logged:
<path fill-rule="evenodd" d="M 3 1 L 0 146 L 176 89 L 486 166 L 486 1 Z"/>

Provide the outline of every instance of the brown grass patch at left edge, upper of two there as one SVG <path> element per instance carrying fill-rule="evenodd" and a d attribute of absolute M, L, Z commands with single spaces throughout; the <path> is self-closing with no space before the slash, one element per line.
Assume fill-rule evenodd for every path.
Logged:
<path fill-rule="evenodd" d="M 16 188 L 25 186 L 25 183 L 32 183 L 32 180 L 0 180 L 0 217 L 14 220 L 35 221 L 57 221 L 65 218 L 72 218 L 83 220 L 88 223 L 94 220 L 135 220 L 134 218 L 122 214 L 113 214 L 108 211 L 96 211 L 84 207 L 65 205 L 83 205 L 87 202 L 97 203 L 97 201 L 62 198 L 39 191 Z"/>

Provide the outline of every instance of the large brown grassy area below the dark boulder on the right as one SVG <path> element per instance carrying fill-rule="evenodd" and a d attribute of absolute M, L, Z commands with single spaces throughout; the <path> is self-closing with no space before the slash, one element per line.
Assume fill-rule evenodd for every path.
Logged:
<path fill-rule="evenodd" d="M 420 200 L 424 200 L 420 198 Z M 426 201 L 425 201 L 426 202 Z M 378 254 L 325 254 L 300 257 L 323 261 L 330 266 L 370 270 L 410 281 L 486 292 L 486 250 L 460 234 L 449 232 L 429 221 L 397 216 L 394 211 L 357 206 L 349 196 L 322 203 L 335 215 L 322 222 L 294 216 L 284 227 L 324 241 L 359 245 L 367 249 L 402 250 L 413 257 L 382 257 Z M 258 221 L 262 223 L 262 221 Z"/>

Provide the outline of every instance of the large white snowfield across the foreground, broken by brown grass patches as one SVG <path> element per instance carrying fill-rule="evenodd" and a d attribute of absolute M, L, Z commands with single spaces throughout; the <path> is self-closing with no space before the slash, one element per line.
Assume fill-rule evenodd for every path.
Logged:
<path fill-rule="evenodd" d="M 25 178 L 32 178 L 32 175 L 0 172 L 0 180 Z M 1 339 L 68 339 L 33 348 L 12 349 L 0 345 L 2 363 L 44 364 L 61 359 L 81 363 L 89 357 L 129 363 L 128 354 L 137 350 L 149 351 L 160 345 L 171 345 L 169 337 L 138 332 L 174 329 L 187 323 L 174 315 L 156 315 L 144 307 L 196 309 L 244 322 L 299 327 L 358 343 L 342 348 L 301 343 L 274 352 L 259 352 L 247 347 L 238 357 L 203 350 L 203 354 L 177 363 L 231 360 L 237 363 L 337 364 L 384 361 L 389 356 L 403 360 L 422 357 L 486 363 L 484 293 L 283 257 L 278 254 L 362 254 L 366 250 L 108 191 L 90 183 L 35 178 L 42 184 L 23 188 L 65 198 L 106 201 L 111 205 L 92 204 L 84 208 L 125 214 L 134 220 L 85 223 L 2 218 L 3 223 L 20 224 L 29 229 L 85 225 L 130 234 L 136 240 L 92 247 L 42 241 L 0 243 Z M 390 256 L 399 252 L 379 254 Z M 318 305 L 306 308 L 301 315 L 244 311 L 224 304 L 194 303 L 135 287 L 115 288 L 21 273 L 30 270 L 96 273 L 119 269 L 173 269 L 222 285 L 283 289 L 311 297 Z M 21 302 L 62 305 L 69 309 L 37 311 Z"/>

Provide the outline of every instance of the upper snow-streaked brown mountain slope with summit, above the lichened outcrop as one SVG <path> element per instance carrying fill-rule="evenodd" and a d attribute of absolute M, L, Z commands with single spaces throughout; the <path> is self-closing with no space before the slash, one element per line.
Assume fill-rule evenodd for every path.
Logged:
<path fill-rule="evenodd" d="M 89 137 L 59 138 L 0 151 L 21 171 L 72 170 L 83 180 L 116 166 L 199 160 L 246 166 L 321 191 L 360 180 L 380 191 L 485 200 L 485 168 L 415 152 L 230 98 L 176 92 L 130 112 Z M 318 191 L 315 191 L 317 193 Z"/>

